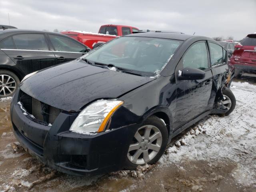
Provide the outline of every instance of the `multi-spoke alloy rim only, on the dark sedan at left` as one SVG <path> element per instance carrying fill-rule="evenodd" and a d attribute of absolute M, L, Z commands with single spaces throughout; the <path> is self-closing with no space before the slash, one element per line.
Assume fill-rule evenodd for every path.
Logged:
<path fill-rule="evenodd" d="M 0 75 L 0 96 L 8 96 L 16 89 L 16 82 L 14 78 L 9 75 Z"/>

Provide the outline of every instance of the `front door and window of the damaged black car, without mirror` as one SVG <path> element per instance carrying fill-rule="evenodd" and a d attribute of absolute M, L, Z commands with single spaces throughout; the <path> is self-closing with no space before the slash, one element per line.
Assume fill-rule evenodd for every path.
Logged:
<path fill-rule="evenodd" d="M 208 109 L 213 79 L 209 66 L 209 53 L 205 41 L 192 44 L 178 63 L 175 70 L 177 102 L 174 130 Z M 178 80 L 179 71 L 186 67 L 204 70 L 205 78 L 202 80 Z"/>

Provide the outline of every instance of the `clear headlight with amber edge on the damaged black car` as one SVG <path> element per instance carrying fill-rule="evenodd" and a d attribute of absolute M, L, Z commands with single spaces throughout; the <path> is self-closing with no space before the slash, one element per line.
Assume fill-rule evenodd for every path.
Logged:
<path fill-rule="evenodd" d="M 102 132 L 112 114 L 123 104 L 120 100 L 98 100 L 87 106 L 74 120 L 70 130 L 74 132 Z"/>

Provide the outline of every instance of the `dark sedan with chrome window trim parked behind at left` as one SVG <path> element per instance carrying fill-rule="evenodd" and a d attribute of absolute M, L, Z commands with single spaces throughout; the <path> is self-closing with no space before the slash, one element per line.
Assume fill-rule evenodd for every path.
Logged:
<path fill-rule="evenodd" d="M 0 30 L 0 98 L 12 96 L 27 74 L 74 60 L 88 50 L 84 44 L 62 34 Z"/>

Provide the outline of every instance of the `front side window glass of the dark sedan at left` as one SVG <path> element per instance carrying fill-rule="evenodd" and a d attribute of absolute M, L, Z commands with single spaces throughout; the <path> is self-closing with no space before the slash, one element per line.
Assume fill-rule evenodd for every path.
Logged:
<path fill-rule="evenodd" d="M 84 46 L 75 42 L 72 39 L 58 36 L 58 35 L 49 35 L 52 45 L 56 51 L 63 51 L 63 52 L 86 52 Z"/>

